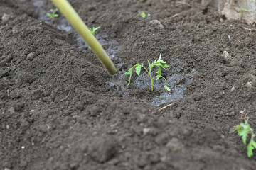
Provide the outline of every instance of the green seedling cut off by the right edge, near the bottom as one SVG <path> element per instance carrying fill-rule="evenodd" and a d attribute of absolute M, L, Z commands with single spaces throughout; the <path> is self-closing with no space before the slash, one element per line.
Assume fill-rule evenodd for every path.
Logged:
<path fill-rule="evenodd" d="M 253 132 L 252 128 L 248 124 L 249 118 L 245 121 L 245 123 L 240 123 L 235 127 L 235 130 L 232 132 L 238 131 L 238 136 L 242 137 L 242 142 L 246 145 L 247 136 L 250 134 L 250 142 L 247 145 L 247 156 L 252 157 L 253 153 L 252 150 L 256 148 L 256 142 L 254 141 L 255 133 Z"/>

